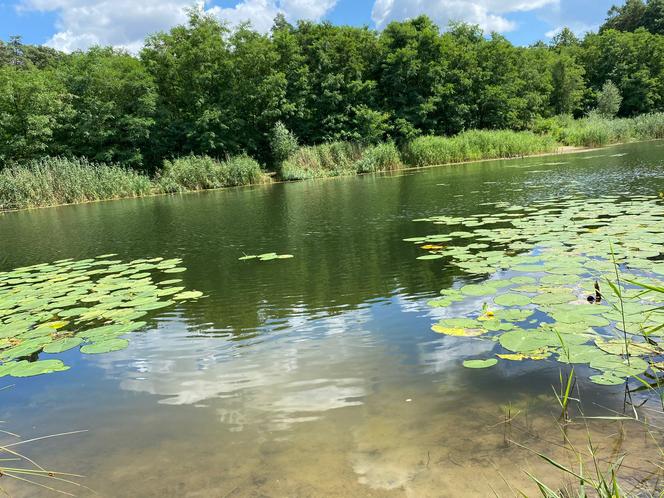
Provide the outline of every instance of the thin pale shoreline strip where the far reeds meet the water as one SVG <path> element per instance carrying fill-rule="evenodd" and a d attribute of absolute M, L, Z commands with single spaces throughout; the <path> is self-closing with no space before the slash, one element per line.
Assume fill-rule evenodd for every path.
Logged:
<path fill-rule="evenodd" d="M 96 203 L 101 203 L 101 202 L 114 202 L 114 201 L 121 201 L 121 200 L 130 200 L 130 199 L 147 199 L 151 197 L 161 197 L 161 196 L 173 196 L 173 195 L 187 195 L 187 194 L 200 194 L 202 192 L 219 192 L 219 191 L 224 191 L 224 190 L 232 190 L 232 189 L 241 189 L 241 188 L 255 188 L 255 187 L 263 187 L 267 185 L 278 185 L 278 184 L 284 184 L 284 183 L 299 183 L 299 182 L 305 182 L 305 181 L 312 181 L 312 180 L 330 180 L 330 179 L 337 179 L 337 178 L 350 178 L 350 177 L 358 177 L 358 176 L 367 176 L 367 175 L 384 175 L 384 174 L 391 174 L 391 173 L 396 173 L 396 172 L 401 172 L 401 171 L 414 171 L 414 170 L 424 170 L 424 169 L 431 169 L 431 168 L 441 168 L 441 167 L 449 167 L 449 166 L 457 166 L 457 165 L 465 165 L 465 164 L 476 164 L 476 163 L 483 163 L 483 162 L 495 162 L 495 161 L 512 161 L 512 160 L 517 160 L 517 159 L 531 159 L 531 158 L 537 158 L 537 157 L 551 157 L 551 156 L 561 156 L 561 155 L 567 155 L 567 154 L 579 154 L 583 152 L 590 152 L 594 150 L 603 150 L 603 149 L 608 149 L 609 147 L 616 147 L 620 145 L 628 145 L 628 144 L 635 144 L 635 143 L 647 143 L 647 142 L 656 142 L 662 139 L 654 139 L 654 140 L 637 140 L 633 142 L 619 142 L 615 144 L 609 144 L 609 145 L 603 145 L 600 147 L 578 147 L 578 146 L 573 146 L 573 145 L 563 145 L 558 147 L 556 151 L 553 152 L 541 152 L 537 154 L 529 154 L 525 156 L 514 156 L 514 157 L 494 157 L 494 158 L 487 158 L 487 159 L 473 159 L 470 161 L 459 161 L 459 162 L 452 162 L 452 163 L 443 163 L 443 164 L 430 164 L 426 166 L 405 166 L 403 168 L 399 169 L 394 169 L 394 170 L 389 170 L 389 171 L 377 171 L 377 172 L 371 172 L 371 173 L 357 173 L 354 175 L 336 175 L 336 176 L 321 176 L 317 178 L 307 178 L 303 180 L 274 180 L 272 179 L 272 176 L 276 173 L 272 173 L 270 175 L 269 173 L 266 173 L 266 177 L 268 177 L 268 181 L 261 182 L 261 183 L 252 183 L 248 185 L 238 185 L 238 186 L 232 186 L 232 187 L 219 187 L 219 188 L 211 188 L 211 189 L 199 189 L 199 190 L 187 190 L 183 192 L 156 192 L 152 194 L 146 194 L 146 195 L 138 195 L 138 196 L 128 196 L 128 197 L 111 197 L 108 199 L 96 199 L 96 200 L 91 200 L 91 201 L 84 201 L 84 202 L 73 202 L 73 203 L 66 203 L 66 204 L 53 204 L 53 205 L 48 205 L 48 206 L 33 206 L 33 207 L 26 207 L 26 208 L 19 208 L 19 209 L 3 209 L 0 210 L 0 215 L 5 214 L 5 213 L 18 213 L 18 212 L 23 212 L 23 211 L 33 211 L 37 209 L 49 209 L 49 208 L 60 208 L 60 207 L 67 207 L 67 206 L 79 206 L 79 205 L 86 205 L 86 204 L 96 204 Z"/>

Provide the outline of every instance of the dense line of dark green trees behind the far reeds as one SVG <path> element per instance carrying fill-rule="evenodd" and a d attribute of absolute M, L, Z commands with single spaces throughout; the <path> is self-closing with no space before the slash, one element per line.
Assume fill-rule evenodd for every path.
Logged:
<path fill-rule="evenodd" d="M 629 0 L 598 33 L 530 47 L 424 16 L 380 32 L 278 17 L 261 34 L 198 11 L 137 56 L 13 38 L 0 42 L 0 167 L 61 155 L 151 169 L 243 152 L 269 166 L 277 123 L 303 145 L 374 143 L 530 129 L 598 106 L 664 111 L 663 6 Z"/>

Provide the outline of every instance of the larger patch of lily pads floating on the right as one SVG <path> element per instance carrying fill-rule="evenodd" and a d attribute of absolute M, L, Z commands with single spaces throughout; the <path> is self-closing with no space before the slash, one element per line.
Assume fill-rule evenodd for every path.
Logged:
<path fill-rule="evenodd" d="M 426 251 L 418 259 L 445 261 L 474 280 L 429 302 L 452 310 L 476 303 L 475 313 L 441 320 L 433 330 L 491 339 L 503 350 L 464 366 L 551 358 L 587 364 L 599 372 L 590 380 L 600 385 L 656 374 L 664 294 L 644 293 L 628 281 L 664 286 L 662 201 L 567 197 L 494 207 L 502 212 L 415 220 L 441 233 L 405 239 Z M 622 303 L 611 288 L 616 269 Z"/>

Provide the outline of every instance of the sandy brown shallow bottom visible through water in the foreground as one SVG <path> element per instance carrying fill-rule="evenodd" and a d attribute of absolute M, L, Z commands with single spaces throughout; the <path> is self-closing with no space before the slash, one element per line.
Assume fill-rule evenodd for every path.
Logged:
<path fill-rule="evenodd" d="M 191 407 L 152 418 L 139 410 L 134 430 L 100 421 L 92 433 L 46 443 L 40 461 L 85 474 L 80 482 L 94 493 L 60 487 L 78 496 L 481 497 L 516 489 L 537 496 L 526 472 L 552 487 L 572 481 L 535 453 L 577 469 L 570 448 L 587 455 L 590 435 L 600 458 L 626 455 L 627 490 L 642 480 L 657 486 L 648 471 L 662 433 L 649 434 L 642 423 L 576 418 L 563 435 L 550 397 L 514 400 L 505 423 L 504 407 L 493 402 L 459 398 L 449 410 L 441 397 L 409 395 L 412 389 L 380 392 L 324 418 L 283 421 L 283 430 L 260 422 L 229 429 L 219 410 L 216 420 Z M 7 478 L 3 484 L 12 496 L 45 495 Z"/>

